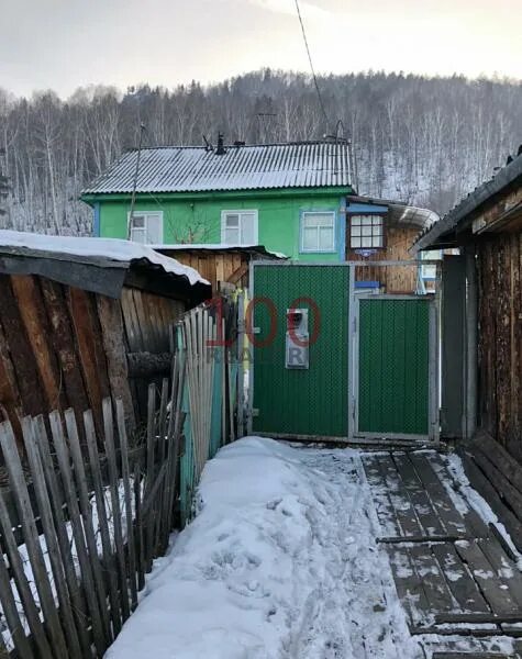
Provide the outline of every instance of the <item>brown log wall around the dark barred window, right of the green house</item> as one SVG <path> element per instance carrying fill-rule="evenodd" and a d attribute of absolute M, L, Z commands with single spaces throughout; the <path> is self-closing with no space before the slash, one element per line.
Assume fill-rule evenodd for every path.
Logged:
<path fill-rule="evenodd" d="M 386 247 L 377 249 L 370 257 L 365 258 L 349 248 L 349 225 L 346 234 L 346 260 L 411 260 L 409 253 L 419 235 L 418 227 L 389 226 L 386 228 Z M 365 267 L 356 268 L 356 281 L 379 281 L 387 293 L 413 293 L 417 289 L 415 267 Z"/>

